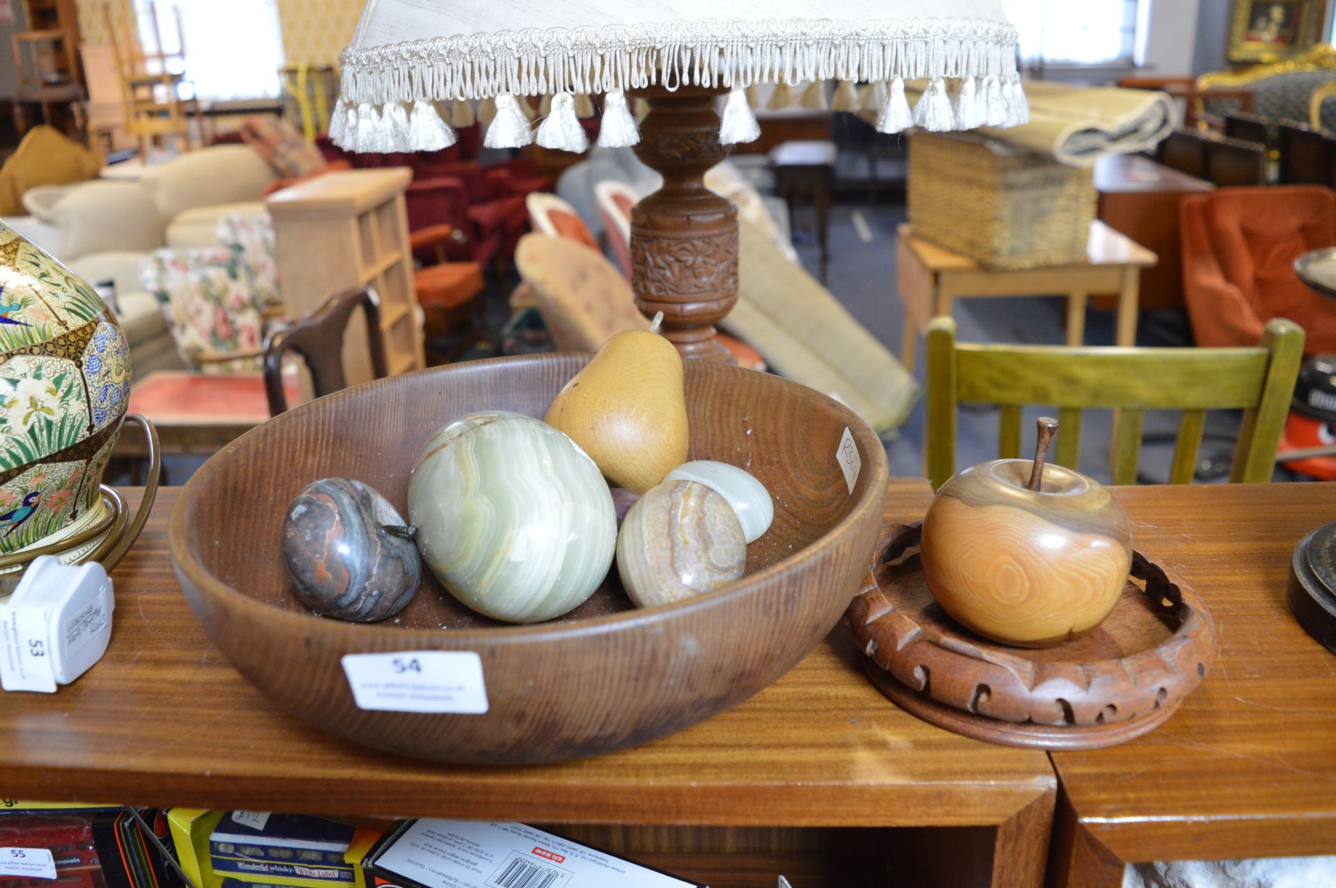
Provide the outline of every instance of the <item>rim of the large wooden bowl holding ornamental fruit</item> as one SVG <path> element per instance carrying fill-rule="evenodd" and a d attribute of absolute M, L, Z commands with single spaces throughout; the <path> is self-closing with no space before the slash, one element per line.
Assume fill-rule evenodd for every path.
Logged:
<path fill-rule="evenodd" d="M 868 510 L 876 510 L 878 514 L 882 513 L 884 498 L 886 498 L 886 475 L 887 475 L 887 461 L 886 450 L 882 447 L 880 439 L 876 433 L 852 410 L 835 401 L 834 398 L 816 391 L 815 389 L 807 389 L 800 383 L 792 382 L 791 379 L 784 379 L 772 374 L 763 374 L 772 379 L 774 383 L 782 386 L 796 386 L 800 389 L 807 389 L 812 397 L 819 398 L 826 402 L 830 407 L 835 410 L 836 414 L 842 414 L 850 433 L 854 434 L 855 441 L 863 445 L 863 466 L 862 474 L 868 474 L 868 483 L 864 487 L 862 497 L 858 497 L 850 509 L 848 514 L 844 515 L 835 526 L 827 530 L 815 542 L 803 546 L 802 549 L 795 549 L 791 554 L 775 561 L 774 564 L 762 568 L 760 570 L 744 576 L 741 580 L 729 582 L 713 592 L 708 592 L 700 596 L 693 596 L 676 602 L 668 602 L 663 605 L 656 605 L 653 608 L 635 608 L 632 610 L 621 610 L 611 614 L 601 614 L 599 617 L 589 617 L 585 620 L 578 620 L 574 622 L 538 622 L 538 624 L 516 624 L 508 626 L 484 626 L 472 629 L 449 629 L 444 626 L 438 628 L 403 628 L 391 624 L 390 621 L 378 622 L 350 622 L 342 620 L 333 620 L 319 617 L 310 612 L 290 610 L 278 605 L 267 604 L 254 598 L 244 592 L 235 589 L 234 586 L 223 582 L 216 576 L 214 576 L 203 564 L 196 558 L 194 547 L 190 543 L 188 534 L 186 530 L 187 514 L 194 502 L 195 495 L 200 486 L 206 483 L 208 477 L 208 463 L 215 458 L 222 458 L 230 454 L 232 450 L 243 449 L 248 446 L 248 439 L 258 434 L 270 434 L 274 423 L 295 422 L 294 417 L 305 417 L 306 414 L 317 410 L 329 410 L 343 401 L 354 397 L 359 397 L 362 393 L 378 389 L 402 385 L 402 381 L 409 378 L 421 377 L 425 374 L 446 374 L 454 373 L 458 367 L 466 367 L 469 365 L 517 365 L 528 363 L 534 361 L 564 361 L 569 358 L 581 359 L 582 363 L 588 363 L 593 355 L 585 353 L 572 353 L 572 351 L 558 351 L 546 353 L 538 355 L 514 355 L 505 358 L 484 358 L 481 361 L 472 361 L 456 365 L 445 365 L 440 367 L 428 367 L 425 370 L 415 370 L 411 373 L 399 374 L 397 377 L 387 377 L 385 379 L 374 379 L 371 382 L 362 383 L 359 386 L 353 386 L 342 391 L 337 391 L 323 398 L 317 398 L 315 401 L 309 401 L 306 403 L 298 405 L 287 410 L 286 413 L 274 417 L 273 419 L 257 426 L 242 434 L 235 441 L 227 443 L 222 450 L 219 450 L 214 457 L 200 466 L 199 470 L 186 482 L 182 490 L 180 498 L 172 507 L 171 519 L 168 522 L 167 530 L 167 545 L 168 551 L 176 562 L 178 570 L 184 573 L 190 582 L 194 584 L 200 593 L 211 598 L 226 598 L 228 606 L 239 606 L 243 610 L 250 610 L 254 614 L 265 614 L 270 618 L 279 618 L 289 622 L 293 626 L 303 625 L 310 626 L 311 621 L 319 621 L 321 625 L 327 626 L 329 632 L 346 633 L 347 636 L 354 636 L 363 630 L 371 629 L 377 632 L 402 632 L 405 633 L 405 640 L 425 640 L 432 638 L 437 633 L 446 634 L 456 641 L 529 641 L 529 640 L 542 640 L 546 636 L 565 636 L 573 630 L 584 632 L 600 632 L 600 630 L 613 630 L 625 625 L 635 625 L 639 622 L 653 622 L 657 614 L 663 612 L 673 613 L 691 613 L 693 610 L 700 610 L 705 608 L 713 608 L 735 597 L 748 596 L 758 592 L 760 588 L 768 585 L 780 573 L 792 569 L 798 562 L 815 558 L 822 553 L 823 549 L 828 549 L 836 545 L 836 539 L 847 534 Z M 684 362 L 687 373 L 759 373 L 755 370 L 745 370 L 741 367 L 735 367 L 731 365 L 713 363 L 713 362 Z M 442 423 L 444 425 L 444 423 Z M 266 431 L 262 431 L 266 430 Z M 850 494 L 851 498 L 856 494 Z M 609 565 L 609 572 L 616 570 L 616 562 Z M 449 594 L 449 593 L 446 593 Z M 414 645 L 421 646 L 421 645 Z"/>

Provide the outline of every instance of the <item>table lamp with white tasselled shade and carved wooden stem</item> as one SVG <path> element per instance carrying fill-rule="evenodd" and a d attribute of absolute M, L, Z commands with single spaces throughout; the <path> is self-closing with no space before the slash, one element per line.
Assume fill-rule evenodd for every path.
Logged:
<path fill-rule="evenodd" d="M 367 0 L 330 138 L 437 151 L 454 142 L 442 107 L 494 100 L 485 146 L 584 151 L 576 97 L 603 95 L 599 144 L 635 146 L 664 178 L 632 212 L 636 304 L 664 312 L 683 357 L 728 361 L 713 324 L 737 299 L 737 218 L 704 174 L 760 135 L 747 89 L 868 83 L 880 132 L 1015 126 L 1015 49 L 999 0 Z M 906 80 L 927 81 L 912 107 Z M 528 96 L 552 96 L 536 135 Z M 639 126 L 628 96 L 648 101 Z"/>

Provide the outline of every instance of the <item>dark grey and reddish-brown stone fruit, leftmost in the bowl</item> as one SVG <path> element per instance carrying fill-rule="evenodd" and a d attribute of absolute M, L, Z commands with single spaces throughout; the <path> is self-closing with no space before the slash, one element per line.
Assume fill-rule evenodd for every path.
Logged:
<path fill-rule="evenodd" d="M 326 617 L 373 622 L 407 606 L 422 557 L 389 499 L 351 478 L 321 478 L 283 518 L 283 561 L 297 597 Z"/>

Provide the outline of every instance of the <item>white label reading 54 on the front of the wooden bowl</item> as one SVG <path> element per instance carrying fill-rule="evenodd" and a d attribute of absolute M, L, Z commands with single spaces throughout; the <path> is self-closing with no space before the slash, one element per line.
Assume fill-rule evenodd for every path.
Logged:
<path fill-rule="evenodd" d="M 358 709 L 461 714 L 488 710 L 482 658 L 472 650 L 346 654 L 342 662 Z"/>

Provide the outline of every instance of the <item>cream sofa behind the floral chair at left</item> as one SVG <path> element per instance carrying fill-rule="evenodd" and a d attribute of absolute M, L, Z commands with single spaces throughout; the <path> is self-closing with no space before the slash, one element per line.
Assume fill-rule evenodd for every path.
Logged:
<path fill-rule="evenodd" d="M 31 216 L 5 219 L 90 283 L 112 280 L 135 378 L 180 367 L 156 300 L 139 283 L 146 255 L 160 247 L 216 246 L 218 220 L 265 212 L 274 168 L 243 144 L 183 154 L 138 180 L 95 179 L 35 188 Z"/>

